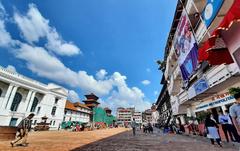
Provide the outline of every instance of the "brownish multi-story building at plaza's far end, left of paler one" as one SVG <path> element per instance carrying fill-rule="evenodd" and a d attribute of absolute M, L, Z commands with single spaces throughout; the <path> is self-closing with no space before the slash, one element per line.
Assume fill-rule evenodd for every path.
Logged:
<path fill-rule="evenodd" d="M 135 108 L 117 108 L 117 123 L 122 125 L 130 124 L 134 112 Z"/>

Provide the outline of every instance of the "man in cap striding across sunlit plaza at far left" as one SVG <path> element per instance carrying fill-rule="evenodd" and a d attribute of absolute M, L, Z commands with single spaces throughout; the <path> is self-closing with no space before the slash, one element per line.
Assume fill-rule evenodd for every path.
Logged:
<path fill-rule="evenodd" d="M 31 113 L 30 115 L 28 115 L 28 117 L 26 117 L 25 119 L 23 119 L 17 126 L 17 134 L 16 134 L 16 139 L 13 140 L 12 142 L 10 142 L 10 144 L 12 145 L 12 147 L 14 146 L 14 144 L 16 144 L 17 142 L 19 142 L 20 140 L 22 140 L 22 143 L 20 144 L 21 146 L 27 146 L 27 137 L 28 137 L 28 132 L 31 129 L 31 119 L 34 117 L 34 114 Z"/>

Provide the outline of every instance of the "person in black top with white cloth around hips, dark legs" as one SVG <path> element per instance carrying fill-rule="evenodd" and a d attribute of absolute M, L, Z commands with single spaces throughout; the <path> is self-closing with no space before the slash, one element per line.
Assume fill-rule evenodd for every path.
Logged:
<path fill-rule="evenodd" d="M 205 120 L 205 127 L 207 132 L 207 137 L 210 139 L 212 145 L 214 145 L 214 141 L 222 147 L 220 143 L 220 136 L 218 133 L 218 125 L 217 123 L 211 119 L 211 114 L 208 114 Z"/>

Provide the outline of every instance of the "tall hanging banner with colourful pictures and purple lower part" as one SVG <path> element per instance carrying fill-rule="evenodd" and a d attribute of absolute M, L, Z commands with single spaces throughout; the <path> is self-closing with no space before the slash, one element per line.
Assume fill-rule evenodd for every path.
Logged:
<path fill-rule="evenodd" d="M 198 46 L 191 30 L 191 25 L 185 11 L 182 12 L 174 39 L 175 53 L 184 81 L 187 81 L 197 68 Z"/>

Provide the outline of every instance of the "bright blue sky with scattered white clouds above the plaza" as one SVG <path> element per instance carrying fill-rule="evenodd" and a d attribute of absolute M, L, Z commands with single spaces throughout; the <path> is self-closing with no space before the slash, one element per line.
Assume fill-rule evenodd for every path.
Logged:
<path fill-rule="evenodd" d="M 148 108 L 176 0 L 2 0 L 0 65 L 103 106 Z M 4 26 L 1 26 L 2 25 Z M 5 37 L 5 38 L 4 38 Z"/>

